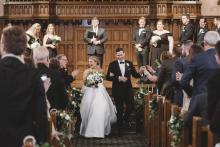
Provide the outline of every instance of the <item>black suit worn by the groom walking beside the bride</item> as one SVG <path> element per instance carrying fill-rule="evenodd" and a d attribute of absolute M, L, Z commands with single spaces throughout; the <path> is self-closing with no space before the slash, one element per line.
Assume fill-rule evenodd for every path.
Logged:
<path fill-rule="evenodd" d="M 131 84 L 131 75 L 135 78 L 140 77 L 140 74 L 134 68 L 134 65 L 131 61 L 125 60 L 125 73 L 124 77 L 127 77 L 126 82 L 120 82 L 118 77 L 122 76 L 122 72 L 119 66 L 119 62 L 113 61 L 109 64 L 107 72 L 107 80 L 112 81 L 112 96 L 115 100 L 115 105 L 117 109 L 117 119 L 119 131 L 123 124 L 123 106 L 126 104 L 126 112 L 124 115 L 124 120 L 128 122 L 129 115 L 133 109 L 133 89 Z"/>

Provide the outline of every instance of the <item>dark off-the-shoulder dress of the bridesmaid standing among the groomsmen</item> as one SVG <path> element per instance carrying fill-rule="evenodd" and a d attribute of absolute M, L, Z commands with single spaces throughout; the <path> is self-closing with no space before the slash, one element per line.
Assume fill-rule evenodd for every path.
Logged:
<path fill-rule="evenodd" d="M 164 33 L 161 35 L 153 33 L 153 36 L 160 36 L 161 40 L 157 42 L 157 46 L 152 48 L 151 54 L 151 66 L 156 69 L 157 64 L 155 60 L 160 60 L 160 55 L 163 51 L 169 51 L 169 40 L 168 37 L 172 36 L 171 33 Z"/>

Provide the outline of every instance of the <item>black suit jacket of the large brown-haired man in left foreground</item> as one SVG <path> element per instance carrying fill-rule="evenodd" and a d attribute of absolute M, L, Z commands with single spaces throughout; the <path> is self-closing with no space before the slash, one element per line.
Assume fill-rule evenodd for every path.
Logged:
<path fill-rule="evenodd" d="M 0 144 L 21 147 L 27 135 L 46 141 L 47 107 L 37 70 L 14 57 L 0 60 Z"/>

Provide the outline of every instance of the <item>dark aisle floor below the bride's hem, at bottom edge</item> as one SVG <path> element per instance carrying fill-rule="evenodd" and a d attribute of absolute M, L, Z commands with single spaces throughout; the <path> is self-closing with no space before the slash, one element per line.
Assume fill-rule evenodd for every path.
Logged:
<path fill-rule="evenodd" d="M 104 139 L 76 137 L 74 147 L 147 147 L 143 134 L 124 134 L 122 137 L 109 136 Z"/>

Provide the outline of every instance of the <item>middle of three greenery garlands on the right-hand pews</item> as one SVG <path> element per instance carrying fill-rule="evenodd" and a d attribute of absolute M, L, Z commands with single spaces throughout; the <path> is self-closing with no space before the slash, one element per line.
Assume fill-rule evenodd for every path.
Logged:
<path fill-rule="evenodd" d="M 149 100 L 148 103 L 148 108 L 149 108 L 149 117 L 148 119 L 152 119 L 157 115 L 158 111 L 158 102 L 157 102 L 157 97 L 153 97 L 152 100 Z"/>

